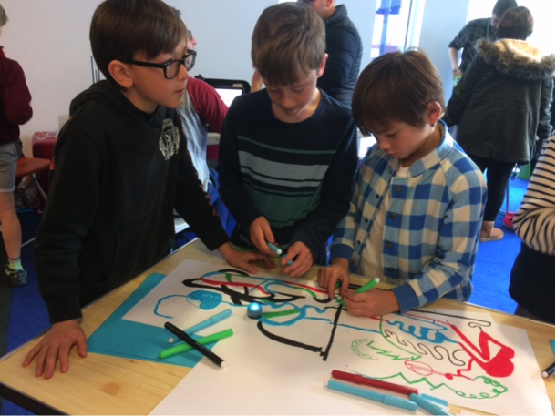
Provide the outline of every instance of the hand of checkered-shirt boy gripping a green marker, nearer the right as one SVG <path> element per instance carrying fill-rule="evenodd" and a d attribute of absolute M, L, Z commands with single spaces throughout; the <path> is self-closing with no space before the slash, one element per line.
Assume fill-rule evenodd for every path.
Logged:
<path fill-rule="evenodd" d="M 370 289 L 365 293 L 347 290 L 344 298 L 345 309 L 358 317 L 377 317 L 397 312 L 399 303 L 390 290 Z"/>

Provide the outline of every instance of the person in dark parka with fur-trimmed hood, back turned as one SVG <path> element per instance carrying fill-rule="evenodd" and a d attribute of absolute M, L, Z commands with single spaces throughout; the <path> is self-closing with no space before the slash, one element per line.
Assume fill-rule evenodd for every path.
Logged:
<path fill-rule="evenodd" d="M 526 7 L 508 9 L 499 40 L 479 41 L 471 66 L 448 102 L 445 120 L 458 125 L 458 143 L 487 171 L 489 199 L 480 241 L 504 237 L 494 228 L 513 167 L 530 162 L 538 139 L 551 134 L 554 56 L 526 42 L 533 18 Z"/>

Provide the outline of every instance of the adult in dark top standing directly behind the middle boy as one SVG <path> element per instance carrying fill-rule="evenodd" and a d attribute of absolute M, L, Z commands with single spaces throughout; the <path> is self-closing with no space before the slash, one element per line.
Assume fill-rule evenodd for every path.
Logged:
<path fill-rule="evenodd" d="M 354 23 L 347 16 L 345 5 L 335 0 L 299 0 L 310 5 L 324 20 L 328 60 L 324 74 L 316 86 L 351 108 L 355 83 L 359 76 L 363 46 Z"/>

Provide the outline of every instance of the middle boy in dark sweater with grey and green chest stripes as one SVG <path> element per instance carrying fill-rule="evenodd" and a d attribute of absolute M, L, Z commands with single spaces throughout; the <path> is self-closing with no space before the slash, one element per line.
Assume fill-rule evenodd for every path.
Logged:
<path fill-rule="evenodd" d="M 326 242 L 349 207 L 357 162 L 350 111 L 316 87 L 326 64 L 324 23 L 303 4 L 266 8 L 252 36 L 265 89 L 237 97 L 222 128 L 220 193 L 232 241 L 287 251 L 291 277 L 326 264 Z"/>

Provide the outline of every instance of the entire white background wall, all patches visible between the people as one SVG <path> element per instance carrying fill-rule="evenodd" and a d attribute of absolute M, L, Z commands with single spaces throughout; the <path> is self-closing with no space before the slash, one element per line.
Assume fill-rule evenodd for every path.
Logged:
<path fill-rule="evenodd" d="M 166 0 L 180 9 L 199 53 L 191 75 L 251 82 L 252 29 L 263 9 L 277 0 Z M 425 0 L 419 0 L 425 1 Z M 419 46 L 431 56 L 451 95 L 448 43 L 465 25 L 471 0 L 426 0 Z M 57 128 L 69 102 L 92 82 L 88 28 L 101 0 L 0 0 L 10 21 L 0 44 L 19 61 L 33 96 L 33 118 L 22 127 L 31 154 L 34 131 Z M 377 0 L 338 0 L 363 39 L 361 66 L 369 62 Z M 552 15 L 553 16 L 553 15 Z M 552 17 L 553 19 L 553 17 Z M 537 27 L 535 28 L 537 30 Z M 548 28 L 554 38 L 554 25 Z"/>

